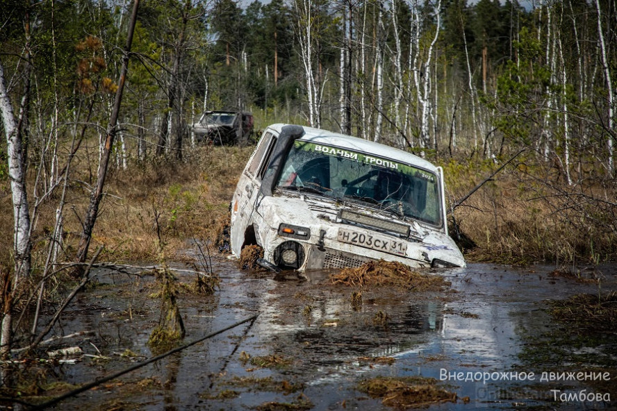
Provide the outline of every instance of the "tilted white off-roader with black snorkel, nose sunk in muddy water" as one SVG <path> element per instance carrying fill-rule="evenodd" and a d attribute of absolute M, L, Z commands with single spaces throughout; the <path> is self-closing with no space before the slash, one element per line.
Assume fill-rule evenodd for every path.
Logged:
<path fill-rule="evenodd" d="M 265 129 L 231 201 L 231 250 L 273 270 L 465 267 L 447 234 L 443 171 L 405 151 L 316 128 Z"/>

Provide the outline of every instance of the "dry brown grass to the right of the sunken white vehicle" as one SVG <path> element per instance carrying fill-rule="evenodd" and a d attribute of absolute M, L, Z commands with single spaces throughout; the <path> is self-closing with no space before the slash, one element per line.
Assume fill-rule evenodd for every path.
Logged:
<path fill-rule="evenodd" d="M 617 192 L 614 185 L 584 181 L 568 186 L 521 156 L 454 210 L 469 260 L 572 265 L 617 258 Z M 447 201 L 457 201 L 491 174 L 492 162 L 445 166 Z M 451 224 L 450 234 L 456 237 Z M 461 240 L 465 240 L 463 237 Z"/>

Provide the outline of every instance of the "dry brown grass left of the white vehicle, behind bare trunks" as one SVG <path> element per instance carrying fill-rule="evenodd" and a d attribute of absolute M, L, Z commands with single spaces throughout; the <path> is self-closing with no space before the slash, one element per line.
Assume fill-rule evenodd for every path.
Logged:
<path fill-rule="evenodd" d="M 129 164 L 126 170 L 110 169 L 90 250 L 104 245 L 101 260 L 158 260 L 162 245 L 165 257 L 181 260 L 188 248 L 186 240 L 197 238 L 213 244 L 222 230 L 219 226 L 229 221 L 229 202 L 252 149 L 199 147 L 187 151 L 181 162 L 151 158 Z M 90 201 L 86 184 L 94 183 L 96 169 L 86 160 L 76 160 L 72 167 L 63 227 L 65 260 L 74 258 L 80 221 Z M 30 178 L 28 183 L 33 184 L 34 176 Z M 10 210 L 8 184 L 0 184 L 0 205 Z M 38 208 L 33 224 L 35 267 L 45 255 L 58 201 L 57 195 L 51 196 Z M 6 233 L 13 231 L 11 213 L 0 216 L 0 228 Z M 6 254 L 13 247 L 12 237 L 0 237 L 0 249 Z M 2 253 L 0 264 L 8 259 Z"/>

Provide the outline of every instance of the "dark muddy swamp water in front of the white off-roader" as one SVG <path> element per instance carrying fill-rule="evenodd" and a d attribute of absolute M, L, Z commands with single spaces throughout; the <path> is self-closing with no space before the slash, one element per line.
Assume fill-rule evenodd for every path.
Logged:
<path fill-rule="evenodd" d="M 427 405 L 435 410 L 611 408 L 613 402 L 595 396 L 561 401 L 566 400 L 561 394 L 582 389 L 617 401 L 615 335 L 573 341 L 566 338 L 570 326 L 557 324 L 547 312 L 548 300 L 597 294 L 598 283 L 554 278 L 549 275 L 554 267 L 471 264 L 435 273 L 450 281 L 449 290 L 361 290 L 356 305 L 351 297 L 357 290 L 329 285 L 328 273 L 272 278 L 240 271 L 222 258 L 213 269 L 222 277 L 214 296 L 186 293 L 179 299 L 185 341 L 258 313 L 256 321 L 56 409 L 389 410 L 358 390 L 362 380 L 375 376 L 436 378 L 459 399 Z M 601 291 L 616 290 L 616 267 L 600 271 Z M 157 324 L 158 301 L 151 280 L 102 271 L 98 278 L 99 285 L 80 296 L 62 325 L 64 333 L 94 331 L 91 339 L 73 344 L 108 359 L 62 364 L 55 370 L 59 380 L 85 383 L 153 355 L 147 339 Z M 179 278 L 192 281 L 189 274 Z M 381 357 L 393 360 L 375 360 Z M 263 358 L 274 358 L 274 364 Z M 592 370 L 609 373 L 610 381 L 542 378 L 544 372 Z M 272 408 L 274 403 L 281 408 Z"/>

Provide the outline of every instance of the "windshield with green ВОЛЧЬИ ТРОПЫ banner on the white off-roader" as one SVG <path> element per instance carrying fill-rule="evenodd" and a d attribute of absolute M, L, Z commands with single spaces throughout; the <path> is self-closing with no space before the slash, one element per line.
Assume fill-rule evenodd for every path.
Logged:
<path fill-rule="evenodd" d="M 276 188 L 362 203 L 441 226 L 437 176 L 387 158 L 297 140 Z"/>

